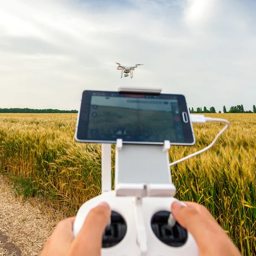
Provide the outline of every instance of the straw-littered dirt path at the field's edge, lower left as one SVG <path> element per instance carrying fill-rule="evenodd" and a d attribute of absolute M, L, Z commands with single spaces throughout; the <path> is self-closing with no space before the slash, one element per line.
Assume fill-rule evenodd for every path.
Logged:
<path fill-rule="evenodd" d="M 22 200 L 0 176 L 0 256 L 36 256 L 63 215 L 39 204 Z"/>

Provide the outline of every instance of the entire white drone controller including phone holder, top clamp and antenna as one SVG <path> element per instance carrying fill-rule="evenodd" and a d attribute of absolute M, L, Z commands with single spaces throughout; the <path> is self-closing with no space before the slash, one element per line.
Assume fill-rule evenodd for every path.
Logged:
<path fill-rule="evenodd" d="M 125 93 L 159 94 L 161 90 L 118 88 Z M 81 206 L 73 224 L 74 236 L 81 230 L 88 212 L 106 202 L 112 212 L 102 237 L 102 256 L 198 256 L 193 236 L 170 216 L 171 204 L 177 199 L 169 148 L 169 141 L 164 141 L 163 146 L 123 145 L 122 139 L 117 139 L 115 190 L 111 190 L 111 144 L 103 143 L 102 194 Z"/>

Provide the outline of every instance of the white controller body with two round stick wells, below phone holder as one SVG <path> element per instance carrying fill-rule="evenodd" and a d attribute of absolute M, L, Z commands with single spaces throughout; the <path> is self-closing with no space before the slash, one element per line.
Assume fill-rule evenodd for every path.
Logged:
<path fill-rule="evenodd" d="M 116 196 L 105 192 L 84 203 L 76 215 L 74 236 L 79 233 L 88 212 L 101 202 L 111 207 L 111 225 L 102 238 L 102 256 L 198 256 L 197 244 L 177 222 L 168 227 L 171 204 L 177 199 Z M 140 204 L 141 203 L 141 204 Z"/>

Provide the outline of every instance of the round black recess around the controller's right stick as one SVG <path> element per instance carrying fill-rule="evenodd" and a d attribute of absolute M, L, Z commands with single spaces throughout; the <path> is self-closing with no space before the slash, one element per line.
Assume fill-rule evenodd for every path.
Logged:
<path fill-rule="evenodd" d="M 186 243 L 188 232 L 177 221 L 173 227 L 168 224 L 170 213 L 168 211 L 156 212 L 151 218 L 151 228 L 163 243 L 173 247 L 180 247 Z"/>

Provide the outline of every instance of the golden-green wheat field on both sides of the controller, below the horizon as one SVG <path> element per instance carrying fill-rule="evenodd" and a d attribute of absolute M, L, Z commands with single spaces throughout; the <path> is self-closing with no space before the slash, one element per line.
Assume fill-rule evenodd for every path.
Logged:
<path fill-rule="evenodd" d="M 209 151 L 171 167 L 175 197 L 204 204 L 242 255 L 256 255 L 256 114 L 207 116 L 229 120 L 230 128 Z M 1 174 L 17 193 L 43 198 L 67 215 L 101 192 L 101 145 L 76 142 L 76 118 L 0 114 Z M 195 146 L 171 147 L 170 161 L 209 145 L 224 125 L 193 126 Z M 114 175 L 114 145 L 112 152 Z"/>

